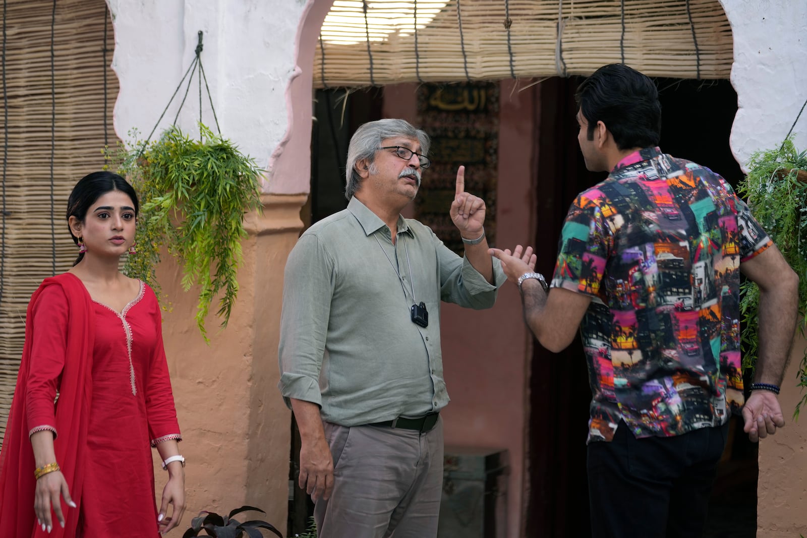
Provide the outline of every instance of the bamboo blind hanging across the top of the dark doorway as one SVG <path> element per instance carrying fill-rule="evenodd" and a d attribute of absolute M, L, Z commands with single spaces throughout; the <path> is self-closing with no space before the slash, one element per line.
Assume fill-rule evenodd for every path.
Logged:
<path fill-rule="evenodd" d="M 718 0 L 335 0 L 314 85 L 589 75 L 624 62 L 651 77 L 728 78 Z"/>

